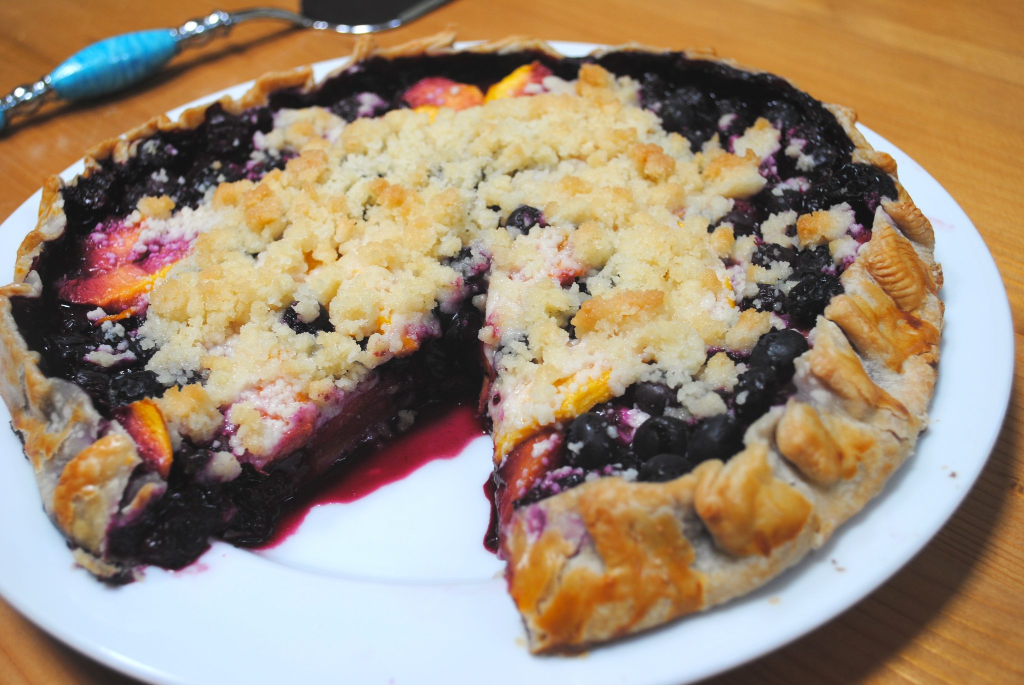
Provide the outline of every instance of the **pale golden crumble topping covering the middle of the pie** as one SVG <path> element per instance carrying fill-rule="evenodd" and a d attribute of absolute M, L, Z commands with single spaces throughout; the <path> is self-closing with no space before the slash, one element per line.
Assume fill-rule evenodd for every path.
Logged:
<path fill-rule="evenodd" d="M 473 302 L 499 458 L 641 380 L 678 388 L 683 417 L 726 411 L 717 391 L 736 367 L 706 363 L 708 349 L 749 352 L 778 319 L 737 300 L 792 272 L 750 263 L 754 237 L 727 217 L 766 185 L 759 167 L 779 131 L 762 118 L 732 153 L 717 137 L 691 151 L 627 77 L 586 65 L 575 82 L 543 83 L 529 97 L 351 123 L 282 110 L 254 159 L 291 157 L 284 169 L 211 187 L 196 209 L 143 198 L 126 221 L 141 226 L 133 250 L 159 266 L 162 250 L 188 246 L 148 295 L 146 369 L 201 387 L 229 428 L 224 447 L 260 464 L 312 430 L 317 408 L 438 336 L 438 308 L 489 264 Z M 543 220 L 506 226 L 520 207 Z M 798 239 L 845 237 L 847 214 L 815 213 Z M 766 241 L 793 245 L 795 223 L 773 215 Z M 326 315 L 330 330 L 299 332 L 289 310 L 303 324 Z M 212 435 L 216 420 L 189 425 L 174 392 L 162 404 L 172 432 Z"/>

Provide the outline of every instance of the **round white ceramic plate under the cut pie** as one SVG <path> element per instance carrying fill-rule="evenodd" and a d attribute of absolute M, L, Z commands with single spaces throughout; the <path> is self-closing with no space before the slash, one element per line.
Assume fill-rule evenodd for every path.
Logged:
<path fill-rule="evenodd" d="M 555 46 L 570 55 L 595 47 Z M 341 63 L 316 65 L 317 78 Z M 238 96 L 247 85 L 202 101 Z M 900 179 L 936 230 L 946 326 L 933 420 L 918 453 L 878 500 L 757 592 L 586 656 L 530 656 L 496 575 L 501 564 L 481 546 L 488 507 L 480 487 L 490 463 L 482 438 L 460 457 L 432 462 L 364 500 L 313 510 L 275 549 L 215 544 L 184 571 L 151 568 L 143 582 L 111 589 L 74 567 L 43 514 L 17 439 L 3 429 L 0 594 L 110 667 L 187 685 L 678 685 L 820 626 L 895 573 L 949 518 L 995 441 L 1013 372 L 1010 307 L 978 231 L 928 172 L 862 130 L 899 163 Z M 39 198 L 0 227 L 4 273 L 11 273 L 17 245 L 35 224 Z M 0 425 L 8 418 L 0 408 Z"/>

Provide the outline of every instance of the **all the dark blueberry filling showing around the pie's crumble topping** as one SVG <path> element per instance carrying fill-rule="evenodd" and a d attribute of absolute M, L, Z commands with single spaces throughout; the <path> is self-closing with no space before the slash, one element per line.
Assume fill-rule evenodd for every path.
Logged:
<path fill-rule="evenodd" d="M 591 58 L 587 58 L 591 59 Z M 76 272 L 81 264 L 80 245 L 97 223 L 130 213 L 145 196 L 168 195 L 178 207 L 195 207 L 206 192 L 222 181 L 258 179 L 280 168 L 290 154 L 254 162 L 251 158 L 257 132 L 272 128 L 273 112 L 281 108 L 311 104 L 326 106 L 352 121 L 360 116 L 380 116 L 389 109 L 406 106 L 402 93 L 417 81 L 443 76 L 485 89 L 514 69 L 540 61 L 556 76 L 572 79 L 583 60 L 555 59 L 525 51 L 508 54 L 462 53 L 430 58 L 373 58 L 341 73 L 309 92 L 279 91 L 265 108 L 240 115 L 219 104 L 207 110 L 204 122 L 193 131 L 162 131 L 139 141 L 136 155 L 126 162 L 105 160 L 88 178 L 61 190 L 68 225 L 63 234 L 48 243 L 34 267 L 44 284 L 39 298 L 12 298 L 18 328 L 30 347 L 41 354 L 40 366 L 49 376 L 72 380 L 83 387 L 97 408 L 111 409 L 144 396 L 160 395 L 163 387 L 144 370 L 151 352 L 135 342 L 132 332 L 140 320 L 121 322 L 128 332 L 128 350 L 135 360 L 111 368 L 83 362 L 85 354 L 102 344 L 99 327 L 88 320 L 88 305 L 61 302 L 55 284 Z M 842 127 L 819 102 L 786 81 L 766 74 L 751 74 L 728 66 L 681 54 L 610 53 L 596 59 L 618 75 L 629 75 L 641 84 L 641 101 L 657 114 L 667 130 L 685 136 L 694 148 L 719 136 L 723 147 L 732 149 L 736 136 L 759 116 L 778 127 L 783 147 L 794 139 L 805 140 L 803 152 L 814 161 L 813 170 L 803 172 L 806 191 L 799 183 L 784 181 L 800 173 L 794 161 L 781 152 L 762 166 L 770 180 L 765 190 L 746 201 L 737 201 L 719 223 L 729 222 L 736 236 L 757 234 L 773 213 L 798 213 L 828 209 L 849 202 L 856 221 L 869 227 L 883 197 L 895 198 L 893 181 L 874 167 L 849 161 L 852 143 Z M 798 179 L 800 180 L 800 179 Z M 500 208 L 493 208 L 501 211 Z M 506 228 L 525 232 L 546 222 L 540 210 L 522 206 L 504 220 Z M 827 249 L 796 252 L 778 246 L 761 246 L 755 262 L 763 266 L 784 261 L 794 266 L 796 284 L 786 295 L 773 286 L 760 285 L 755 298 L 740 302 L 787 315 L 797 326 L 813 325 L 828 300 L 842 292 L 838 270 Z M 265 541 L 281 505 L 307 482 L 310 474 L 323 472 L 347 459 L 360 444 L 387 433 L 381 421 L 397 409 L 422 406 L 478 390 L 482 363 L 476 332 L 482 325 L 472 295 L 486 290 L 486 264 L 466 250 L 452 260 L 464 279 L 464 297 L 454 310 L 438 307 L 440 337 L 422 345 L 420 353 L 396 358 L 380 367 L 378 385 L 368 394 L 364 412 L 354 427 L 342 434 L 338 426 L 262 473 L 249 465 L 229 483 L 207 481 L 202 473 L 210 452 L 185 445 L 174 458 L 168 489 L 142 518 L 125 521 L 111 533 L 111 555 L 126 561 L 156 563 L 177 568 L 189 563 L 208 546 L 211 536 L 238 544 Z M 583 284 L 581 284 L 583 285 Z M 326 312 L 312 322 L 301 322 L 294 309 L 282 320 L 297 332 L 329 331 Z M 740 377 L 729 398 L 730 411 L 690 424 L 665 416 L 675 405 L 675 392 L 665 385 L 642 383 L 626 395 L 631 403 L 651 415 L 635 431 L 624 424 L 628 406 L 621 400 L 594 408 L 568 427 L 569 466 L 548 474 L 520 503 L 535 502 L 582 482 L 587 471 L 606 475 L 617 464 L 636 467 L 641 480 L 667 480 L 688 472 L 707 459 L 728 459 L 742 446 L 742 431 L 759 416 L 755 408 L 767 408 L 784 398 L 792 378 L 793 358 L 800 343 L 790 331 L 768 334 L 755 348 L 750 369 Z M 783 335 L 784 334 L 784 335 Z M 772 336 L 769 338 L 769 336 Z M 801 336 L 802 338 L 802 336 Z M 806 349 L 806 341 L 803 343 Z M 738 357 L 736 357 L 738 358 Z M 743 394 L 744 401 L 738 401 Z M 620 404 L 614 404 L 620 401 Z M 376 412 L 376 414 L 375 414 Z M 367 423 L 370 421 L 370 423 Z M 361 423 L 360 423 L 361 422 Z M 340 426 L 341 424 L 339 424 Z M 682 428 L 681 428 L 682 425 Z M 347 430 L 347 429 L 346 429 Z M 382 432 L 383 431 L 383 432 Z"/>

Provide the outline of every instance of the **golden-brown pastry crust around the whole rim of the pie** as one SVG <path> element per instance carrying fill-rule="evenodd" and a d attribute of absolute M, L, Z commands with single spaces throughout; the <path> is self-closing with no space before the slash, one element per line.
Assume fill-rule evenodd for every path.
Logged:
<path fill-rule="evenodd" d="M 364 39 L 351 63 L 454 53 L 454 32 L 445 32 L 379 49 Z M 561 57 L 542 41 L 519 37 L 467 49 Z M 631 44 L 600 54 L 615 50 L 666 52 Z M 240 99 L 220 104 L 237 114 L 266 104 L 281 89 L 312 87 L 309 69 L 273 73 Z M 89 151 L 84 175 L 98 169 L 98 161 L 126 159 L 133 140 L 196 128 L 208 106 L 188 110 L 177 122 L 157 117 L 100 143 Z M 822 545 L 912 453 L 927 424 L 942 327 L 934 234 L 899 184 L 892 158 L 873 151 L 854 127 L 853 112 L 825 106 L 853 142 L 853 161 L 888 174 L 897 197 L 882 199 L 870 241 L 842 274 L 844 294 L 817 318 L 810 351 L 796 360 L 796 393 L 754 422 L 743 449 L 725 463 L 705 461 L 666 482 L 599 478 L 507 511 L 501 548 L 532 651 L 579 649 L 643 631 L 763 585 Z M 61 183 L 56 176 L 45 182 L 39 223 L 18 250 L 14 283 L 0 288 L 0 354 L 10 360 L 0 375 L 0 395 L 46 512 L 75 545 L 76 561 L 100 577 L 117 577 L 126 569 L 104 560 L 100 550 L 140 463 L 139 449 L 84 390 L 43 374 L 40 354 L 30 349 L 11 312 L 10 298 L 42 291 L 33 264 L 63 231 Z M 821 229 L 812 220 L 801 228 Z M 508 444 L 496 458 L 532 449 L 532 437 Z M 147 497 L 142 488 L 128 508 L 143 507 Z"/>

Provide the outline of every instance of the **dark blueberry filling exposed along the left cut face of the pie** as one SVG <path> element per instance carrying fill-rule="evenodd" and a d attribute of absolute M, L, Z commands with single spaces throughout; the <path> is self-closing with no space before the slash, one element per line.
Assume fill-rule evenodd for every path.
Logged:
<path fill-rule="evenodd" d="M 112 528 L 110 554 L 181 568 L 206 551 L 212 537 L 243 546 L 265 543 L 282 507 L 313 476 L 343 467 L 392 436 L 390 422 L 398 410 L 466 400 L 479 391 L 480 365 L 475 365 L 475 375 L 468 375 L 461 340 L 451 343 L 442 335 L 424 348 L 422 354 L 378 367 L 376 380 L 355 390 L 361 398 L 349 403 L 350 411 L 318 428 L 309 444 L 268 472 L 244 464 L 234 480 L 211 480 L 203 475 L 211 452 L 185 444 L 174 455 L 164 497 L 140 518 Z"/>

